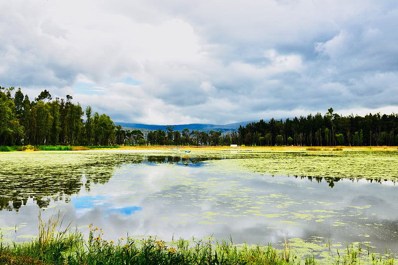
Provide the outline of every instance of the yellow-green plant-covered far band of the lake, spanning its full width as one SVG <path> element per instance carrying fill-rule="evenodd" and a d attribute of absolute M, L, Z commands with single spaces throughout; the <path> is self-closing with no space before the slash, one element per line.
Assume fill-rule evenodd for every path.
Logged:
<path fill-rule="evenodd" d="M 0 162 L 0 210 L 18 211 L 29 198 L 40 207 L 55 201 L 70 201 L 82 186 L 105 184 L 115 169 L 124 164 L 174 164 L 199 167 L 203 162 L 238 160 L 252 172 L 271 176 L 288 175 L 322 180 L 333 188 L 336 182 L 367 179 L 383 183 L 397 179 L 397 152 L 40 152 L 35 155 L 13 153 Z"/>

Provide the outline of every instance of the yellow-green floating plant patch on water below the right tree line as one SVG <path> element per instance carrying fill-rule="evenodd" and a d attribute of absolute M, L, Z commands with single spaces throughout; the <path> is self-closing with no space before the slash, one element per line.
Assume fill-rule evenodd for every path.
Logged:
<path fill-rule="evenodd" d="M 251 172 L 271 176 L 294 176 L 309 181 L 322 180 L 333 188 L 348 179 L 384 183 L 398 181 L 396 152 L 292 152 L 252 153 L 239 157 L 239 164 Z M 254 157 L 257 156 L 257 157 Z"/>

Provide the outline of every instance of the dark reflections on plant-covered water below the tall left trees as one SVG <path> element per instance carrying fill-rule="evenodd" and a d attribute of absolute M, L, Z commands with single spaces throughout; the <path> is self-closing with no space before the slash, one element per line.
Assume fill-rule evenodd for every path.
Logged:
<path fill-rule="evenodd" d="M 72 194 L 77 194 L 84 185 L 90 190 L 90 184 L 104 184 L 114 175 L 116 167 L 126 163 L 141 163 L 142 156 L 125 154 L 96 155 L 85 158 L 76 164 L 23 163 L 8 164 L 0 169 L 0 210 L 15 210 L 26 205 L 29 198 L 40 208 L 46 208 L 51 202 L 70 201 Z M 83 176 L 86 180 L 83 179 Z"/>

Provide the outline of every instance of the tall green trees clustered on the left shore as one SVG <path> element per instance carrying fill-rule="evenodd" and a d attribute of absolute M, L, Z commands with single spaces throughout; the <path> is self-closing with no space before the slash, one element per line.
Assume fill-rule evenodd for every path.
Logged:
<path fill-rule="evenodd" d="M 110 145 L 115 125 L 109 116 L 84 111 L 73 97 L 52 99 L 46 89 L 29 100 L 18 88 L 0 87 L 0 145 Z"/>

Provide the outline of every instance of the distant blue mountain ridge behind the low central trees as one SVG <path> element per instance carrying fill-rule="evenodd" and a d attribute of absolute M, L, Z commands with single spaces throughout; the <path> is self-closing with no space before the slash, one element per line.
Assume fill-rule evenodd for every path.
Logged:
<path fill-rule="evenodd" d="M 127 123 L 127 122 L 115 122 L 116 125 L 120 124 L 122 127 L 127 129 L 140 129 L 143 131 L 155 131 L 161 129 L 162 131 L 166 131 L 167 126 L 174 126 L 174 131 L 182 131 L 185 128 L 188 128 L 190 131 L 204 131 L 209 132 L 213 131 L 237 131 L 239 125 L 246 126 L 246 124 L 251 123 L 251 121 L 242 121 L 224 125 L 216 125 L 216 124 L 200 124 L 200 123 L 191 123 L 191 124 L 179 124 L 179 125 L 153 125 L 153 124 L 141 124 L 141 123 Z"/>

